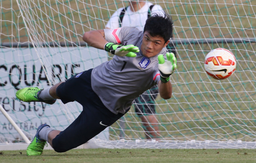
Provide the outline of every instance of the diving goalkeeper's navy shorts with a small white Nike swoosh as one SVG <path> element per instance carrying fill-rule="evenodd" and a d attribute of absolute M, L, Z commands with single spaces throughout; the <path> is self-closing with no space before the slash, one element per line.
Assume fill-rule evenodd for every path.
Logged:
<path fill-rule="evenodd" d="M 77 101 L 83 106 L 76 120 L 52 140 L 56 152 L 66 152 L 86 143 L 124 115 L 114 114 L 104 106 L 91 88 L 91 72 L 92 69 L 81 72 L 56 89 L 63 103 Z"/>

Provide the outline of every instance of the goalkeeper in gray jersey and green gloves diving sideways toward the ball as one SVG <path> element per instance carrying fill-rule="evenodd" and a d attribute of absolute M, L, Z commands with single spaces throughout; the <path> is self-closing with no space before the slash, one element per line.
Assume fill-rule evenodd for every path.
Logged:
<path fill-rule="evenodd" d="M 176 58 L 167 53 L 166 46 L 172 32 L 169 15 L 158 14 L 147 19 L 144 31 L 122 27 L 85 32 L 85 42 L 115 56 L 48 89 L 28 87 L 17 91 L 17 98 L 24 102 L 53 104 L 60 99 L 64 104 L 77 101 L 83 106 L 78 118 L 63 131 L 40 125 L 27 155 L 40 155 L 46 141 L 56 152 L 86 143 L 119 120 L 134 99 L 153 85 L 158 85 L 161 98 L 171 98 L 170 75 L 176 69 Z"/>

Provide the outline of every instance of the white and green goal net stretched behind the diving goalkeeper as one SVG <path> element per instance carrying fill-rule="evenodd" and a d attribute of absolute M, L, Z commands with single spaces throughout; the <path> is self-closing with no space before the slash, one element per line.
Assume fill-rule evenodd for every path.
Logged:
<path fill-rule="evenodd" d="M 177 70 L 173 96 L 153 99 L 159 135 L 148 140 L 134 106 L 91 141 L 108 148 L 256 148 L 256 1 L 150 0 L 174 21 Z M 24 103 L 24 87 L 48 88 L 111 59 L 82 41 L 104 29 L 122 0 L 4 0 L 0 2 L 0 108 L 32 140 L 47 123 L 64 130 L 80 114 L 77 102 Z M 218 47 L 237 59 L 225 80 L 204 70 L 206 54 Z M 85 92 L 86 93 L 86 92 Z M 154 96 L 155 94 L 150 94 Z M 137 103 L 136 105 L 143 105 Z M 0 143 L 20 143 L 14 125 L 0 112 Z M 145 115 L 148 116 L 147 114 Z M 149 133 L 150 134 L 150 133 Z"/>

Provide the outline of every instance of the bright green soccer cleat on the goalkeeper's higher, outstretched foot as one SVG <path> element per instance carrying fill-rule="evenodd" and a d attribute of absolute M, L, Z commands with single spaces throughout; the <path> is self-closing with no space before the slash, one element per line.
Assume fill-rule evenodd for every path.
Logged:
<path fill-rule="evenodd" d="M 39 89 L 37 87 L 28 87 L 28 88 L 23 88 L 20 89 L 19 91 L 16 92 L 16 97 L 24 102 L 33 102 L 33 101 L 37 101 L 37 102 L 44 102 L 47 104 L 54 104 L 56 99 L 53 100 L 42 100 L 41 98 L 39 98 L 39 93 L 42 91 L 43 89 Z"/>

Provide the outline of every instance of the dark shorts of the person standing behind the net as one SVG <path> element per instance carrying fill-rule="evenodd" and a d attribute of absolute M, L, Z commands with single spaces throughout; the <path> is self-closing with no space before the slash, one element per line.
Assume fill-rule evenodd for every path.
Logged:
<path fill-rule="evenodd" d="M 134 107 L 138 116 L 155 114 L 155 99 L 158 96 L 158 87 L 154 85 L 135 99 Z"/>

